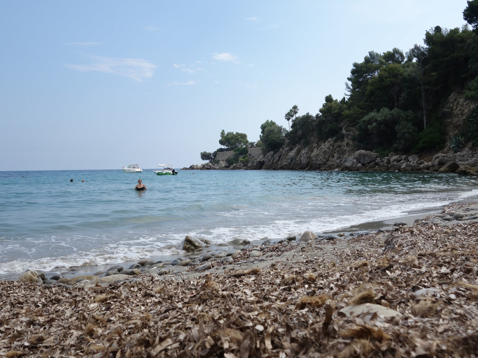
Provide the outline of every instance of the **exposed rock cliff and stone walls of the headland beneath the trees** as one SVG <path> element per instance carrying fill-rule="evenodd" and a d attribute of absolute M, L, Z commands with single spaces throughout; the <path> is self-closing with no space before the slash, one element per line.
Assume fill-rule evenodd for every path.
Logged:
<path fill-rule="evenodd" d="M 450 95 L 441 111 L 446 126 L 446 141 L 459 134 L 467 125 L 467 117 L 476 105 L 465 99 L 460 90 Z M 328 139 L 325 142 L 311 139 L 307 145 L 301 143 L 295 146 L 288 142 L 277 153 L 269 152 L 266 155 L 262 155 L 260 148 L 250 148 L 254 155 L 250 153 L 249 163 L 239 162 L 229 167 L 224 161 L 228 152 L 222 152 L 218 153 L 221 155 L 218 164 L 206 163 L 183 169 L 439 170 L 461 174 L 478 173 L 478 152 L 469 146 L 456 154 L 452 153 L 447 144 L 442 151 L 412 156 L 390 153 L 389 156 L 380 158 L 379 153 L 357 150 L 354 137 L 355 129 L 344 126 L 338 139 Z M 450 162 L 456 165 L 450 165 Z"/>

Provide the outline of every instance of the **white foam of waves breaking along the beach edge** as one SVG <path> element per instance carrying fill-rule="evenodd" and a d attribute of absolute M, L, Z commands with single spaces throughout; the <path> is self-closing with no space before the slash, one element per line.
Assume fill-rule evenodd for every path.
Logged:
<path fill-rule="evenodd" d="M 18 259 L 10 262 L 4 262 L 0 265 L 0 275 L 13 276 L 26 270 L 39 270 L 44 272 L 57 271 L 62 272 L 72 266 L 81 266 L 85 263 L 101 266 L 109 264 L 118 264 L 129 261 L 138 261 L 147 257 L 163 257 L 170 255 L 181 255 L 183 252 L 179 249 L 179 244 L 186 234 L 205 237 L 214 243 L 228 242 L 233 239 L 248 239 L 257 241 L 264 238 L 281 238 L 289 235 L 300 235 L 305 230 L 313 232 L 325 232 L 339 230 L 351 225 L 366 223 L 369 221 L 389 220 L 406 216 L 411 210 L 426 210 L 431 206 L 445 206 L 450 203 L 450 198 L 441 199 L 440 192 L 429 192 L 417 200 L 412 195 L 404 195 L 400 199 L 400 203 L 384 205 L 380 203 L 380 197 L 369 197 L 366 202 L 368 208 L 360 208 L 361 212 L 350 212 L 351 204 L 345 199 L 335 199 L 335 211 L 322 211 L 322 216 L 310 218 L 307 212 L 307 206 L 300 204 L 271 204 L 263 209 L 242 209 L 235 212 L 235 217 L 239 218 L 234 225 L 218 226 L 215 228 L 203 228 L 190 232 L 174 232 L 174 233 L 152 233 L 136 234 L 136 237 L 115 238 L 112 235 L 101 235 L 108 243 L 90 251 L 84 251 L 88 243 L 95 240 L 94 237 L 79 237 L 75 240 L 86 241 L 82 250 L 78 250 L 61 239 L 52 237 L 54 244 L 58 246 L 70 247 L 73 253 L 68 255 L 60 255 L 58 257 L 43 257 L 31 259 Z M 456 200 L 465 200 L 478 195 L 478 189 L 466 192 L 456 193 Z M 448 193 L 449 196 L 449 193 Z M 407 200 L 408 198 L 408 200 Z M 390 199 L 390 198 L 388 198 Z M 331 199 L 333 201 L 334 199 Z M 341 201 L 343 200 L 343 201 Z M 311 199 L 311 202 L 315 202 Z M 381 206 L 380 206 L 381 204 Z M 288 212 L 296 212 L 297 217 L 290 219 L 275 219 L 277 210 L 281 210 L 281 205 L 288 206 Z M 316 203 L 314 205 L 322 205 Z M 339 209 L 337 209 L 339 208 Z M 326 216 L 328 214 L 328 216 Z M 225 213 L 224 216 L 230 215 Z M 257 220 L 250 220 L 249 217 L 257 215 Z M 242 221 L 243 220 L 243 221 Z M 135 232 L 132 232 L 135 233 Z M 37 245 L 51 246 L 52 243 L 45 243 L 39 239 L 31 239 Z M 10 246 L 15 250 L 23 250 L 22 245 L 15 242 Z M 30 247 L 29 252 L 33 253 L 34 247 Z M 26 251 L 25 251 L 26 252 Z M 15 278 L 16 278 L 15 277 Z"/>

